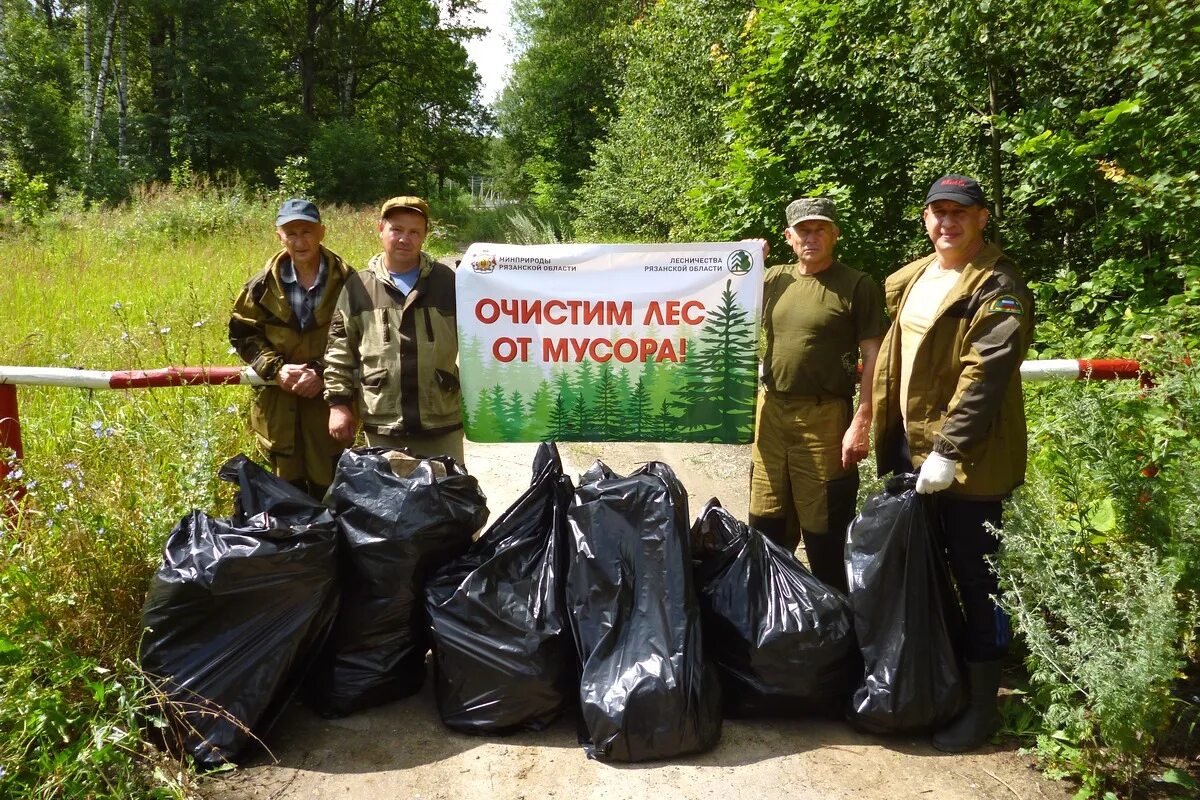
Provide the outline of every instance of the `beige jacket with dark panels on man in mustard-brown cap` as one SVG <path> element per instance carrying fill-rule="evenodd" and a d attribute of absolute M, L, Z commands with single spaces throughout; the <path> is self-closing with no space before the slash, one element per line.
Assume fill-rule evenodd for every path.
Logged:
<path fill-rule="evenodd" d="M 325 349 L 325 401 L 356 402 L 362 427 L 385 435 L 462 428 L 455 273 L 421 253 L 406 297 L 383 253 L 346 283 Z"/>

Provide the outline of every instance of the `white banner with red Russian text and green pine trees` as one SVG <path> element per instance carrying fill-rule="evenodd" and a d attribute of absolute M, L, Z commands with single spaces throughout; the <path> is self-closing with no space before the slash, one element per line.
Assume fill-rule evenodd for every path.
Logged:
<path fill-rule="evenodd" d="M 751 441 L 762 269 L 751 242 L 472 245 L 467 438 Z"/>

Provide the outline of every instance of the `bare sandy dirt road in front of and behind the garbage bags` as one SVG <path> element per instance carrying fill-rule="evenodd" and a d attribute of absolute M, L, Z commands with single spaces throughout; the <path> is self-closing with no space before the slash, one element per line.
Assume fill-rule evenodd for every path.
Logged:
<path fill-rule="evenodd" d="M 535 445 L 467 445 L 492 517 L 528 486 Z M 637 463 L 670 464 L 694 515 L 710 497 L 745 519 L 749 447 L 598 444 L 562 446 L 577 476 L 594 458 L 625 474 Z M 725 722 L 710 752 L 667 763 L 613 765 L 589 760 L 572 718 L 509 738 L 475 738 L 445 728 L 427 680 L 419 694 L 343 720 L 323 720 L 294 704 L 268 735 L 270 756 L 206 780 L 210 800 L 367 798 L 520 800 L 594 798 L 1050 798 L 1068 787 L 1040 777 L 1016 745 L 947 756 L 924 738 L 863 735 L 840 722 Z"/>

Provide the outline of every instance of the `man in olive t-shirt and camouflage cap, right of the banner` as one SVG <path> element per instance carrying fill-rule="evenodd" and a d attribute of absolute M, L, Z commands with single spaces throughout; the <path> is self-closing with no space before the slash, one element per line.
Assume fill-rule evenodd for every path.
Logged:
<path fill-rule="evenodd" d="M 788 549 L 803 540 L 812 575 L 846 591 L 842 549 L 871 428 L 870 392 L 853 409 L 857 367 L 862 354 L 863 374 L 875 371 L 883 295 L 870 276 L 834 259 L 833 200 L 800 198 L 786 216 L 797 261 L 764 277 L 750 525 Z"/>

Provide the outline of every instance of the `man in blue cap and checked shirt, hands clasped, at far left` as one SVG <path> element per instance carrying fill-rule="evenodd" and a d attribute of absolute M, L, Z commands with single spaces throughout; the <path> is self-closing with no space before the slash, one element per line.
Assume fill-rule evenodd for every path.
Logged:
<path fill-rule="evenodd" d="M 320 211 L 293 198 L 275 230 L 283 249 L 246 282 L 229 319 L 238 355 L 274 386 L 254 390 L 250 423 L 271 470 L 313 497 L 334 480 L 342 446 L 329 435 L 324 356 L 329 321 L 354 272 L 328 249 Z"/>

